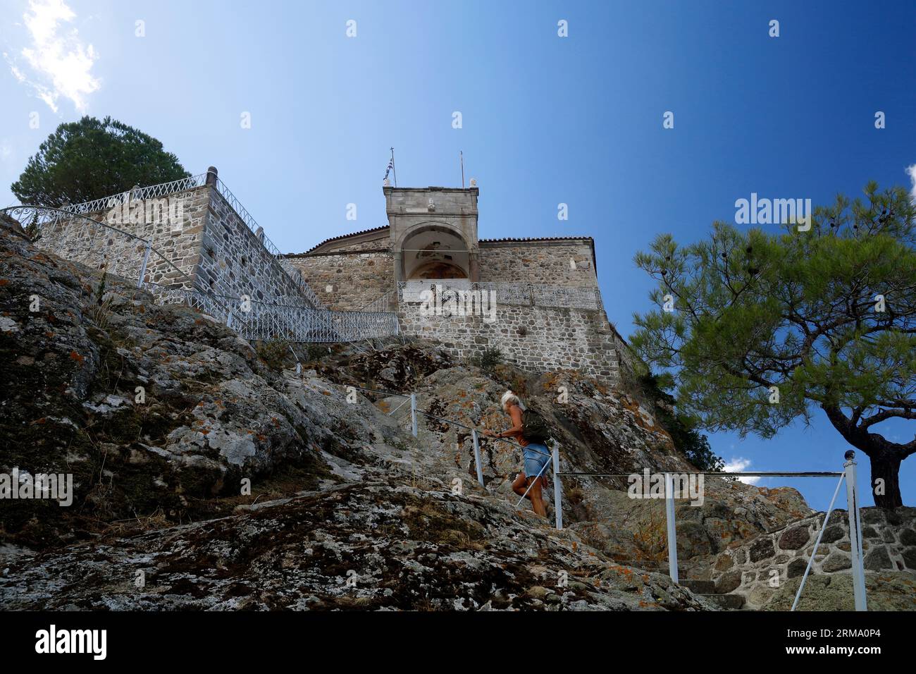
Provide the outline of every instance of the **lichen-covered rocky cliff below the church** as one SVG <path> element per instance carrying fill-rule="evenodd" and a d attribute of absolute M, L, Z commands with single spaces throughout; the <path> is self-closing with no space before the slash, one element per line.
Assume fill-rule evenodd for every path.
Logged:
<path fill-rule="evenodd" d="M 420 340 L 296 353 L 0 228 L 0 472 L 74 488 L 67 507 L 0 502 L 5 608 L 717 607 L 658 572 L 663 502 L 562 478 L 558 532 L 552 505 L 516 507 L 516 447 L 482 443 L 482 487 L 467 430 L 421 417 L 415 438 L 402 398 L 348 386 L 489 428 L 512 387 L 562 471 L 693 470 L 638 392 L 482 370 Z M 791 489 L 707 480 L 702 506 L 679 505 L 679 557 L 811 514 Z"/>

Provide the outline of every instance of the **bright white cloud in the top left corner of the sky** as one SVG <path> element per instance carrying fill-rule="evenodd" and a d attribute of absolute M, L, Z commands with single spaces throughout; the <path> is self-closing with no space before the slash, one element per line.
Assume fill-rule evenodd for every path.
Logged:
<path fill-rule="evenodd" d="M 92 73 L 98 59 L 93 45 L 84 44 L 76 28 L 62 26 L 76 14 L 64 0 L 29 0 L 22 18 L 31 41 L 20 54 L 30 72 L 4 53 L 13 76 L 30 86 L 54 112 L 61 97 L 70 99 L 78 112 L 85 112 L 86 96 L 101 83 Z"/>

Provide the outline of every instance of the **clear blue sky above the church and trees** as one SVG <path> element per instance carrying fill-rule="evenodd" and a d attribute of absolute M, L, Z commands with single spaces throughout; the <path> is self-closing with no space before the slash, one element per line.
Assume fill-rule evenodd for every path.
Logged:
<path fill-rule="evenodd" d="M 0 203 L 60 122 L 111 115 L 191 172 L 218 167 L 299 252 L 386 224 L 389 147 L 401 186 L 460 186 L 463 150 L 481 237 L 594 237 L 607 315 L 627 336 L 651 287 L 633 256 L 658 233 L 701 238 L 752 192 L 819 204 L 871 179 L 911 187 L 914 38 L 910 2 L 4 0 Z M 747 470 L 839 470 L 846 448 L 821 416 L 772 440 L 711 440 Z M 911 458 L 904 503 L 914 478 Z M 782 483 L 820 508 L 834 489 L 759 482 Z"/>

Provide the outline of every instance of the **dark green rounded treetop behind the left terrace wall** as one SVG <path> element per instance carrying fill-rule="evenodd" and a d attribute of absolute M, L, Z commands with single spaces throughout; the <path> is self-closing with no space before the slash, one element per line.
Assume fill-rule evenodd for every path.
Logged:
<path fill-rule="evenodd" d="M 77 204 L 191 175 L 162 143 L 105 117 L 61 124 L 10 189 L 22 204 Z"/>

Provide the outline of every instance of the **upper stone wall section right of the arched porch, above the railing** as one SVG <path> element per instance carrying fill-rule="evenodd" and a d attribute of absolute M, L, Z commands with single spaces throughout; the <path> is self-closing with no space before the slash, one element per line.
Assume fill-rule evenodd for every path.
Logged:
<path fill-rule="evenodd" d="M 575 263 L 575 269 L 573 264 Z M 594 286 L 590 239 L 558 241 L 481 241 L 481 282 L 512 281 L 564 286 Z"/>

